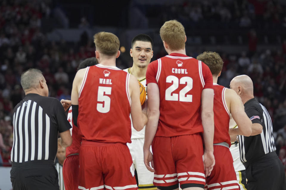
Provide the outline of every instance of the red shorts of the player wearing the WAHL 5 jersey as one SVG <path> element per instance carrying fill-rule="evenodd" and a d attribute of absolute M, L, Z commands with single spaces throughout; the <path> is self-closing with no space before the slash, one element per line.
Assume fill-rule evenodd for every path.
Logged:
<path fill-rule="evenodd" d="M 78 189 L 138 189 L 127 145 L 82 141 Z"/>

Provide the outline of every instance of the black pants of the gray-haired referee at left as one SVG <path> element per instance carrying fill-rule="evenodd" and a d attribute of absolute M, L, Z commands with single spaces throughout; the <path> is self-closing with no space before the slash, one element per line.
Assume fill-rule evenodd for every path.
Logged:
<path fill-rule="evenodd" d="M 12 162 L 13 190 L 59 190 L 57 170 L 52 160 Z"/>

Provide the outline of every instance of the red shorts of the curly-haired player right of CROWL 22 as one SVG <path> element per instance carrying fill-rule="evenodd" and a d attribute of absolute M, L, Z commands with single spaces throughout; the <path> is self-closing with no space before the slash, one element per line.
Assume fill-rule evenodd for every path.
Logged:
<path fill-rule="evenodd" d="M 233 159 L 229 148 L 214 145 L 215 166 L 209 177 L 206 178 L 206 186 L 209 190 L 231 189 L 238 190 L 236 174 L 233 167 Z"/>

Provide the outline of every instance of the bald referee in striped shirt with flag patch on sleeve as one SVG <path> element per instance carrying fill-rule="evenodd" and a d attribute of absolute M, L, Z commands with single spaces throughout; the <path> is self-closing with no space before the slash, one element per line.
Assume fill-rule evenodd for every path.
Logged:
<path fill-rule="evenodd" d="M 271 118 L 253 95 L 253 83 L 247 75 L 234 77 L 230 88 L 240 96 L 245 113 L 252 121 L 251 136 L 242 136 L 238 128 L 230 129 L 231 135 L 239 134 L 240 161 L 245 166 L 248 190 L 285 190 L 284 167 L 275 153 Z"/>

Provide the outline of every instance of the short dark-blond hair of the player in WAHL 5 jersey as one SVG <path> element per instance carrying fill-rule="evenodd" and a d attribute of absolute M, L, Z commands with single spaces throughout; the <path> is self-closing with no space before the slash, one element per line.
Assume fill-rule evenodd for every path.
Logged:
<path fill-rule="evenodd" d="M 98 32 L 94 34 L 96 50 L 107 56 L 114 56 L 119 50 L 119 39 L 110 32 Z"/>

